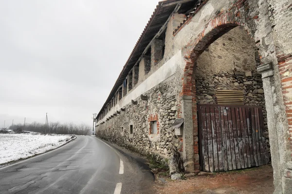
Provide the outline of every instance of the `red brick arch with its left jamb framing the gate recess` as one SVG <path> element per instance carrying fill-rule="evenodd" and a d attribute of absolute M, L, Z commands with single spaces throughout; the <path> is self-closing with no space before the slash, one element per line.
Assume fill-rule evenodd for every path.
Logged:
<path fill-rule="evenodd" d="M 249 28 L 246 24 L 237 22 L 231 16 L 231 13 L 221 14 L 220 16 L 211 20 L 206 28 L 198 35 L 198 37 L 183 48 L 183 56 L 185 66 L 182 78 L 181 97 L 192 97 L 192 123 L 193 123 L 193 138 L 194 138 L 194 165 L 195 171 L 200 170 L 199 159 L 199 138 L 198 138 L 198 117 L 197 117 L 197 99 L 196 99 L 196 82 L 193 77 L 196 68 L 197 59 L 201 53 L 208 48 L 214 41 L 216 41 L 223 34 L 229 32 L 237 26 L 242 26 L 248 34 Z M 238 15 L 238 14 L 237 14 Z M 251 35 L 252 37 L 252 35 Z M 252 37 L 254 40 L 254 38 Z M 255 42 L 256 45 L 256 42 Z M 258 49 L 260 49 L 258 47 Z"/>

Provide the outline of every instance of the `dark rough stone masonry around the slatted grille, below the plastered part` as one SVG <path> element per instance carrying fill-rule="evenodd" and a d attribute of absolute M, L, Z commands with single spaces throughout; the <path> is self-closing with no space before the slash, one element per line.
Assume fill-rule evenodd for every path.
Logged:
<path fill-rule="evenodd" d="M 267 125 L 267 112 L 261 74 L 257 72 L 226 72 L 221 74 L 196 76 L 196 97 L 199 104 L 217 104 L 217 90 L 243 91 L 244 105 L 261 106 L 264 116 L 265 139 L 269 144 L 269 131 Z M 269 150 L 270 152 L 270 150 Z"/>

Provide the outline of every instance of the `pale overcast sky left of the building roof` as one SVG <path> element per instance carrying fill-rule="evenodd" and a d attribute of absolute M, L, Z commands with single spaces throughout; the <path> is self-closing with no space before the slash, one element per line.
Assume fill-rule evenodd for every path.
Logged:
<path fill-rule="evenodd" d="M 0 127 L 92 123 L 158 0 L 0 0 Z"/>

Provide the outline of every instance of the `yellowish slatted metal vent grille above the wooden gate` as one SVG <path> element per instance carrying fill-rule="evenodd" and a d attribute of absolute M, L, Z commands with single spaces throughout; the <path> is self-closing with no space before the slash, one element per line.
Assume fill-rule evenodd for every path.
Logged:
<path fill-rule="evenodd" d="M 244 97 L 242 91 L 217 90 L 216 98 L 218 104 L 244 105 Z"/>

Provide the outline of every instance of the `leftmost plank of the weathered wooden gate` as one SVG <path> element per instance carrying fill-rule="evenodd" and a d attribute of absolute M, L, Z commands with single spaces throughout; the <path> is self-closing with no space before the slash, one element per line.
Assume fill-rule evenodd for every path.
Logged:
<path fill-rule="evenodd" d="M 208 136 L 207 136 L 207 123 L 206 123 L 206 107 L 201 106 L 201 134 L 202 134 L 202 155 L 203 155 L 203 170 L 210 172 L 209 168 L 209 153 L 208 153 Z"/>

